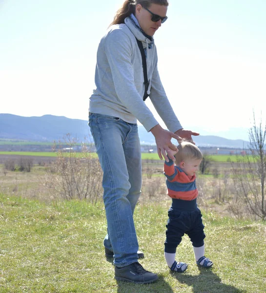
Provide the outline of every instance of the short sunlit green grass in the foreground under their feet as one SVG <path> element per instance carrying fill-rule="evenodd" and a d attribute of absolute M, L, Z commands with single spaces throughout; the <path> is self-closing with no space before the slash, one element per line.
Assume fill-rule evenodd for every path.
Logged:
<path fill-rule="evenodd" d="M 263 293 L 266 225 L 204 215 L 211 270 L 198 269 L 184 236 L 178 259 L 184 274 L 164 261 L 167 204 L 138 205 L 135 224 L 144 268 L 159 274 L 149 285 L 117 282 L 104 257 L 102 204 L 40 202 L 0 195 L 0 293 Z"/>

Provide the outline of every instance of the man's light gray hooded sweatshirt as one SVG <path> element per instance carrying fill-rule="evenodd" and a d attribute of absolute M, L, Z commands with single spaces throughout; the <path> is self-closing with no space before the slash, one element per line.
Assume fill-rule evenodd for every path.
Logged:
<path fill-rule="evenodd" d="M 143 66 L 136 38 L 146 50 L 151 102 L 167 128 L 175 132 L 182 126 L 160 80 L 156 46 L 130 18 L 123 24 L 112 25 L 99 44 L 96 89 L 90 97 L 89 112 L 119 117 L 128 123 L 139 120 L 147 131 L 159 124 L 143 102 Z"/>

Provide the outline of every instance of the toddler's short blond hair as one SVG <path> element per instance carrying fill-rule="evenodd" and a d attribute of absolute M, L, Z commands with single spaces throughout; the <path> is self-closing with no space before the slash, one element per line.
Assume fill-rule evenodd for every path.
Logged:
<path fill-rule="evenodd" d="M 185 160 L 202 160 L 203 154 L 198 146 L 183 140 L 178 146 L 178 153 L 176 153 L 176 163 L 181 163 Z"/>

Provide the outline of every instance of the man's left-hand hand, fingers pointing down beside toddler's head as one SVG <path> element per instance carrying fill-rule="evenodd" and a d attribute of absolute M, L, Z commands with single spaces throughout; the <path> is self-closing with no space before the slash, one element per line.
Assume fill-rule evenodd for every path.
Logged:
<path fill-rule="evenodd" d="M 155 137 L 159 158 L 163 160 L 164 157 L 165 161 L 169 162 L 167 157 L 168 154 L 169 158 L 175 162 L 176 159 L 174 154 L 178 152 L 178 149 L 172 144 L 171 138 L 175 138 L 180 141 L 181 137 L 171 131 L 165 130 L 159 124 L 151 128 L 150 131 Z"/>

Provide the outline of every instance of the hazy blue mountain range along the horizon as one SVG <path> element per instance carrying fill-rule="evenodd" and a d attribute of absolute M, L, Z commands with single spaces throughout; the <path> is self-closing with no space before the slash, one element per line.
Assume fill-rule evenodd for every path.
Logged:
<path fill-rule="evenodd" d="M 193 130 L 201 133 L 200 129 Z M 23 117 L 0 114 L 0 139 L 53 142 L 61 140 L 67 133 L 79 141 L 84 141 L 85 137 L 90 141 L 91 135 L 86 120 L 53 115 Z M 155 145 L 154 136 L 142 125 L 139 125 L 139 136 L 142 145 Z M 248 144 L 245 140 L 228 139 L 216 135 L 200 135 L 193 139 L 198 146 L 243 148 Z"/>

